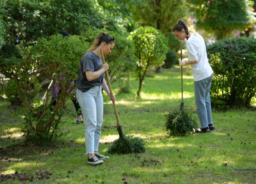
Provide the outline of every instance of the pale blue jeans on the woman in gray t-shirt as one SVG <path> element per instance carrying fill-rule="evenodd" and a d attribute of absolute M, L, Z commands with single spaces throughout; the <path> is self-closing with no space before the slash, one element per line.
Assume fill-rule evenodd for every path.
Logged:
<path fill-rule="evenodd" d="M 99 139 L 103 122 L 102 85 L 90 88 L 87 92 L 77 89 L 76 99 L 84 116 L 85 154 L 94 153 L 94 151 L 99 150 Z"/>

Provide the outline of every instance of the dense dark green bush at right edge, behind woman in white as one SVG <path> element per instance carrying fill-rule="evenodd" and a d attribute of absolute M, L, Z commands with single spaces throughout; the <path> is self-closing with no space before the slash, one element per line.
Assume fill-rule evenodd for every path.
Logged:
<path fill-rule="evenodd" d="M 256 39 L 237 37 L 207 46 L 214 71 L 211 104 L 215 108 L 249 107 L 256 96 Z"/>

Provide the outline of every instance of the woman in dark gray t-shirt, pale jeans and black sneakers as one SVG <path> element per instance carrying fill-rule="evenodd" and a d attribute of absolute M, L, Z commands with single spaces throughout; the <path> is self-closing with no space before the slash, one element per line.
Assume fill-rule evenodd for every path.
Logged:
<path fill-rule="evenodd" d="M 88 164 L 102 164 L 102 159 L 109 158 L 98 152 L 103 122 L 102 88 L 112 101 L 115 101 L 116 98 L 114 95 L 111 97 L 104 79 L 105 71 L 108 70 L 109 66 L 107 63 L 102 64 L 100 48 L 102 48 L 105 56 L 111 53 L 114 46 L 114 38 L 109 34 L 101 32 L 80 61 L 76 81 L 76 99 L 81 106 L 84 116 L 85 154 L 88 154 Z"/>

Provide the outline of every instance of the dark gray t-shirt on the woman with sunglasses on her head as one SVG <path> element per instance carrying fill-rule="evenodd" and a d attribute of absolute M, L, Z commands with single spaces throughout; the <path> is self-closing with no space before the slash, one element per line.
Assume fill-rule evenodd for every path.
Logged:
<path fill-rule="evenodd" d="M 102 68 L 102 58 L 96 55 L 93 51 L 87 52 L 80 61 L 80 67 L 78 72 L 78 77 L 76 81 L 76 87 L 82 92 L 88 91 L 97 85 L 102 85 L 105 73 L 99 76 L 97 79 L 88 81 L 85 75 L 87 70 L 98 71 Z"/>

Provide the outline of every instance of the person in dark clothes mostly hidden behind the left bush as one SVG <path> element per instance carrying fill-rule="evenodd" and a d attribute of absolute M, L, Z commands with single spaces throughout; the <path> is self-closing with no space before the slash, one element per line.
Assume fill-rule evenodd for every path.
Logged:
<path fill-rule="evenodd" d="M 69 37 L 69 33 L 67 31 L 60 31 L 59 34 L 62 34 L 63 37 Z M 75 81 L 72 81 L 71 86 L 75 85 Z M 71 91 L 71 94 L 75 93 L 76 90 L 73 90 Z M 52 88 L 51 88 L 51 94 L 52 94 L 52 103 L 50 105 L 50 110 L 52 110 L 52 106 L 55 107 L 56 103 L 57 103 L 57 100 L 58 99 L 55 99 L 56 96 L 58 96 L 59 94 L 61 93 L 61 91 L 59 90 L 59 84 L 58 82 L 53 82 L 52 83 Z M 53 101 L 53 99 L 55 99 Z M 83 122 L 83 119 L 82 119 L 82 113 L 81 111 L 79 111 L 80 108 L 80 105 L 79 105 L 79 102 L 76 100 L 76 97 L 71 97 L 71 100 L 76 108 L 76 120 L 74 122 L 72 122 L 72 124 L 81 124 L 81 123 L 84 123 Z"/>

